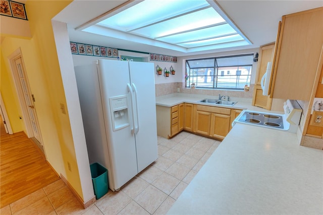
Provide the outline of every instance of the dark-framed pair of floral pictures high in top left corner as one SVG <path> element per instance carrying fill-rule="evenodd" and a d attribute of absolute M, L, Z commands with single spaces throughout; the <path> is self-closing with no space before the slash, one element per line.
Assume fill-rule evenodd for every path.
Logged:
<path fill-rule="evenodd" d="M 25 4 L 9 0 L 0 1 L 0 15 L 28 20 Z"/>

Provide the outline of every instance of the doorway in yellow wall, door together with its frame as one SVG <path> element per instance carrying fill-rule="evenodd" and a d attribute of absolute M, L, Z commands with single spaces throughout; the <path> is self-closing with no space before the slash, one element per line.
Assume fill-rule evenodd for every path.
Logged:
<path fill-rule="evenodd" d="M 18 100 L 22 110 L 23 122 L 28 138 L 34 140 L 37 146 L 44 153 L 44 148 L 41 139 L 41 133 L 38 124 L 37 113 L 35 109 L 35 99 L 31 94 L 28 77 L 23 63 L 23 57 L 20 48 L 9 56 L 11 71 L 14 78 L 14 83 L 18 93 Z"/>

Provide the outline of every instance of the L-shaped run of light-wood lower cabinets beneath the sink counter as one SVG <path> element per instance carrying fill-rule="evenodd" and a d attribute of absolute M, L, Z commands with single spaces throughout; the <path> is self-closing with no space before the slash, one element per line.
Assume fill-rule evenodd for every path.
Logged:
<path fill-rule="evenodd" d="M 241 110 L 191 103 L 156 105 L 157 135 L 169 139 L 185 130 L 222 140 L 240 113 Z"/>

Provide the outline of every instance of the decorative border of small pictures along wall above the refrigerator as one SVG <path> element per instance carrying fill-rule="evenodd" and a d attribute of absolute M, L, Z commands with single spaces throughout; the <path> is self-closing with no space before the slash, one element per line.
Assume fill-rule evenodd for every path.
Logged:
<path fill-rule="evenodd" d="M 88 56 L 99 56 L 107 58 L 118 58 L 119 50 L 117 48 L 104 47 L 99 45 L 90 45 L 85 43 L 71 42 L 71 52 L 73 55 L 88 55 Z M 123 50 L 123 49 L 122 49 Z M 127 50 L 136 52 L 133 50 Z M 150 61 L 162 61 L 162 62 L 173 62 L 177 63 L 177 57 L 168 55 L 159 55 L 156 53 L 149 53 Z"/>

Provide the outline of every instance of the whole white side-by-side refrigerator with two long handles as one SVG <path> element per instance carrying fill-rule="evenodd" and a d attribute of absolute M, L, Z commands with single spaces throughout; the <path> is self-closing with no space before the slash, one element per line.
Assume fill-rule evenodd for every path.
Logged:
<path fill-rule="evenodd" d="M 158 157 L 154 65 L 98 60 L 75 74 L 90 164 L 118 190 Z"/>

